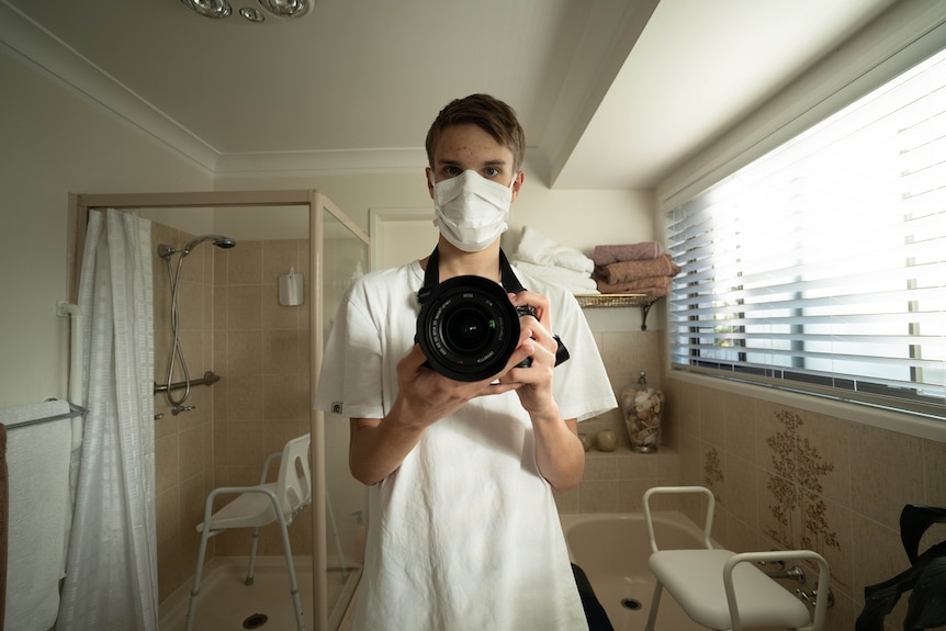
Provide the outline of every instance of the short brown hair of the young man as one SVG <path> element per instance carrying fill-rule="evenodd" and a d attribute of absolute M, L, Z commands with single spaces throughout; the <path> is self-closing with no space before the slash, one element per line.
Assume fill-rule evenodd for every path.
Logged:
<path fill-rule="evenodd" d="M 515 110 L 489 94 L 455 99 L 440 110 L 427 132 L 427 161 L 433 167 L 433 149 L 440 133 L 450 125 L 472 123 L 513 151 L 513 170 L 518 171 L 526 155 L 526 134 Z"/>

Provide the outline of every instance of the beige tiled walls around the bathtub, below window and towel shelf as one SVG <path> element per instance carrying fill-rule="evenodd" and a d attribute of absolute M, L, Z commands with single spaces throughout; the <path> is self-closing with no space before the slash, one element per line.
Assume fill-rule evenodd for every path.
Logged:
<path fill-rule="evenodd" d="M 599 317 L 594 311 L 585 309 L 592 320 Z M 639 317 L 631 308 L 605 311 Z M 555 496 L 559 511 L 640 511 L 651 486 L 708 486 L 718 502 L 716 541 L 736 551 L 818 551 L 831 566 L 835 597 L 827 628 L 853 629 L 864 587 L 909 567 L 903 505 L 946 506 L 946 443 L 773 401 L 764 388 L 746 394 L 662 374 L 664 331 L 650 329 L 599 330 L 595 338 L 616 393 L 633 387 L 640 370 L 663 390 L 663 444 L 652 454 L 630 451 L 619 410 L 579 424 L 592 438 L 615 431 L 619 444 L 587 452 L 581 484 Z M 701 522 L 692 505 L 661 508 L 671 507 Z M 921 551 L 944 540 L 946 525 L 934 525 Z M 908 597 L 888 616 L 888 629 L 900 628 Z"/>

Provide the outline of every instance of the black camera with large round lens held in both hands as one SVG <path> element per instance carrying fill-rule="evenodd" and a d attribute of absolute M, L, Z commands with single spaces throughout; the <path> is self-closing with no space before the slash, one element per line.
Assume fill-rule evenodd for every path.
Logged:
<path fill-rule="evenodd" d="M 435 286 L 423 301 L 415 341 L 432 370 L 457 381 L 482 381 L 509 361 L 523 315 L 534 316 L 536 309 L 514 306 L 495 282 L 455 277 Z M 531 363 L 526 358 L 518 365 Z"/>

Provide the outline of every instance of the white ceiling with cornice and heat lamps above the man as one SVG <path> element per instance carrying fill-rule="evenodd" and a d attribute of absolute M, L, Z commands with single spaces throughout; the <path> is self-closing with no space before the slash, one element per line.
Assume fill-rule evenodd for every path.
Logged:
<path fill-rule="evenodd" d="M 218 173 L 419 169 L 488 92 L 549 185 L 647 189 L 894 0 L 313 1 L 0 0 L 0 41 Z"/>

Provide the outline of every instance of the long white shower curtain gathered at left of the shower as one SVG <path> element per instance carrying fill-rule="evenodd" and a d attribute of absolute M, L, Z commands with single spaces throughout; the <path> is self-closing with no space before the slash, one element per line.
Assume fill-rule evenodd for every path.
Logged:
<path fill-rule="evenodd" d="M 150 232 L 129 213 L 89 215 L 79 281 L 89 414 L 57 631 L 158 628 Z"/>

